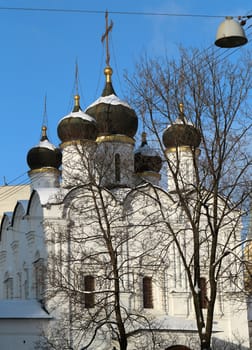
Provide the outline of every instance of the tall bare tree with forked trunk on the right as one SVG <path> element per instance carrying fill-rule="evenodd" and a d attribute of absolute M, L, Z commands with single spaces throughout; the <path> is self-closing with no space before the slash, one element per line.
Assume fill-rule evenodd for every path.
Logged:
<path fill-rule="evenodd" d="M 169 193 L 185 217 L 180 230 L 169 217 L 163 220 L 192 293 L 201 349 L 211 347 L 218 293 L 224 297 L 229 290 L 228 297 L 237 299 L 243 287 L 240 234 L 251 194 L 251 69 L 248 55 L 233 64 L 209 51 L 182 49 L 177 61 L 145 57 L 126 77 L 131 104 L 144 111 L 145 128 L 163 154 Z M 176 134 L 178 124 L 184 129 Z M 190 180 L 181 160 L 183 146 Z"/>

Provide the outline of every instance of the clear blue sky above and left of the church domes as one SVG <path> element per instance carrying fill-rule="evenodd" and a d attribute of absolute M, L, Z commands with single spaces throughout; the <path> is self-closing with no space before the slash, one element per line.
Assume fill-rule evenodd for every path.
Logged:
<path fill-rule="evenodd" d="M 79 9 L 98 13 L 7 10 Z M 208 15 L 154 16 L 111 13 L 113 84 L 124 96 L 123 73 L 143 53 L 176 57 L 178 46 L 205 49 L 226 15 L 252 14 L 249 0 L 0 0 L 0 185 L 27 180 L 26 154 L 40 139 L 47 96 L 48 135 L 58 145 L 57 123 L 72 109 L 78 60 L 82 108 L 101 94 L 105 66 L 101 35 L 105 10 Z M 252 22 L 252 20 L 251 20 Z M 249 46 L 247 46 L 249 48 Z M 242 49 L 241 49 L 242 50 Z"/>

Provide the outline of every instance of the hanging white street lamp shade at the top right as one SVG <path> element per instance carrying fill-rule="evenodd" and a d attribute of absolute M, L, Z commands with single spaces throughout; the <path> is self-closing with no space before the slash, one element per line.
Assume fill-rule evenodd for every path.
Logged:
<path fill-rule="evenodd" d="M 239 22 L 233 17 L 226 17 L 217 31 L 215 45 L 222 48 L 242 46 L 248 42 L 245 32 Z"/>

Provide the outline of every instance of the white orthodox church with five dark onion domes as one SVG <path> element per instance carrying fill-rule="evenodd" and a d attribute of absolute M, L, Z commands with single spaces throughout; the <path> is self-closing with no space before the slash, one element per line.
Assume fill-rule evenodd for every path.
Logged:
<path fill-rule="evenodd" d="M 201 135 L 180 105 L 163 132 L 171 164 L 163 189 L 163 157 L 146 133 L 135 147 L 138 117 L 116 95 L 109 61 L 104 74 L 101 97 L 83 111 L 76 94 L 59 120 L 60 148 L 42 127 L 27 154 L 31 195 L 2 217 L 1 349 L 199 349 L 185 264 L 194 256 L 193 233 L 177 189 L 193 192 Z M 235 215 L 228 214 L 223 240 Z M 207 219 L 200 225 L 206 235 Z M 230 244 L 241 223 L 235 231 Z M 194 292 L 206 317 L 207 240 L 201 253 Z M 224 278 L 238 270 L 223 267 L 213 327 L 219 349 L 249 349 L 246 302 Z"/>

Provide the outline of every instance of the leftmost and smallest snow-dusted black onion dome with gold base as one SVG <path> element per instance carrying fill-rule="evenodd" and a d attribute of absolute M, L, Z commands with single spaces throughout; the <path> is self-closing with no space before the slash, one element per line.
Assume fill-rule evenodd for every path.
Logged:
<path fill-rule="evenodd" d="M 46 126 L 42 127 L 42 137 L 39 144 L 27 154 L 27 164 L 31 170 L 52 167 L 58 169 L 61 166 L 61 151 L 49 142 L 46 135 Z"/>

